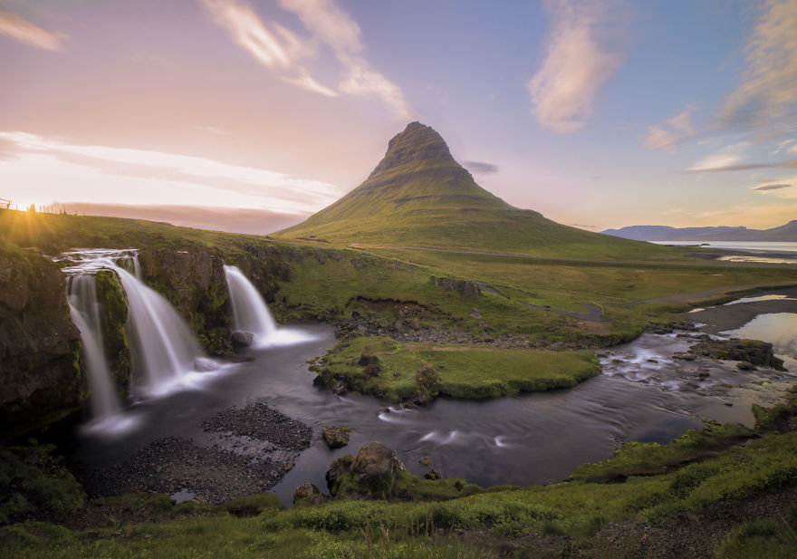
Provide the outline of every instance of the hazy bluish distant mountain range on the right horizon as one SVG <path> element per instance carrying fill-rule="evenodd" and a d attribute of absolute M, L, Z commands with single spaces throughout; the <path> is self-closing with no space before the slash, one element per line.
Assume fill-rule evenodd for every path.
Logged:
<path fill-rule="evenodd" d="M 797 242 L 797 219 L 772 229 L 747 227 L 629 226 L 601 233 L 635 241 L 784 241 Z"/>

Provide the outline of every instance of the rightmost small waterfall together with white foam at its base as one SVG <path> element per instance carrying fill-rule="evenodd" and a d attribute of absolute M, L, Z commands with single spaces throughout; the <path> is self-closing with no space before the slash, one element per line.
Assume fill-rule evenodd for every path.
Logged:
<path fill-rule="evenodd" d="M 235 330 L 254 334 L 254 347 L 270 347 L 308 341 L 307 334 L 278 328 L 268 305 L 241 270 L 225 265 L 225 277 L 233 307 Z"/>

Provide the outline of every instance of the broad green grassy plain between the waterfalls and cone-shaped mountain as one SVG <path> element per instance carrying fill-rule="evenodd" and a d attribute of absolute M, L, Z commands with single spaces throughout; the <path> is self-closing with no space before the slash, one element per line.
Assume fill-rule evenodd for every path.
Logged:
<path fill-rule="evenodd" d="M 649 244 L 634 245 L 653 251 L 639 253 L 648 262 L 598 262 L 595 258 L 599 255 L 591 255 L 591 260 L 563 261 L 350 249 L 134 219 L 11 210 L 0 210 L 0 239 L 18 246 L 38 246 L 48 254 L 88 246 L 208 252 L 250 270 L 253 279 L 259 277 L 259 288 L 283 323 L 360 316 L 384 327 L 404 320 L 405 325 L 409 322 L 420 329 L 456 330 L 478 337 L 516 335 L 532 345 L 626 342 L 651 324 L 680 320 L 677 313 L 688 309 L 686 304 L 645 301 L 739 285 L 797 284 L 794 269 L 696 262 L 685 256 L 690 254 L 687 249 L 666 251 L 667 262 L 651 262 L 659 249 Z M 471 297 L 459 290 L 448 291 L 432 283 L 432 276 L 482 282 L 498 294 L 482 291 Z M 168 292 L 164 294 L 169 300 L 187 300 L 161 280 L 153 281 Z M 190 278 L 181 281 L 187 287 L 192 283 Z M 204 301 L 206 297 L 194 299 Z M 588 321 L 566 314 L 583 313 L 584 304 L 600 307 L 605 320 Z M 474 310 L 481 318 L 473 317 Z M 402 311 L 406 314 L 403 318 L 399 316 Z M 197 334 L 208 339 L 218 336 L 217 332 L 205 332 L 210 326 L 195 320 L 198 308 L 184 312 Z"/>

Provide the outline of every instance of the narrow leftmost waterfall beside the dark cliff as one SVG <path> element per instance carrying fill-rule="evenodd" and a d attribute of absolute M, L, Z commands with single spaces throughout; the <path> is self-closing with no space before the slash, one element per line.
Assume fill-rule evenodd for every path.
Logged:
<path fill-rule="evenodd" d="M 96 276 L 81 274 L 73 275 L 70 279 L 67 300 L 72 322 L 81 331 L 83 359 L 91 387 L 91 417 L 101 420 L 118 413 L 121 405 L 103 352 Z"/>

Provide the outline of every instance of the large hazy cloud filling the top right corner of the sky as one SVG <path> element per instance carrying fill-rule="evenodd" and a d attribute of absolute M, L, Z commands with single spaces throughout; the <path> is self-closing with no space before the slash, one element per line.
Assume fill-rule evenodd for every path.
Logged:
<path fill-rule="evenodd" d="M 739 84 L 717 113 L 720 126 L 766 130 L 797 124 L 797 0 L 763 0 Z"/>

